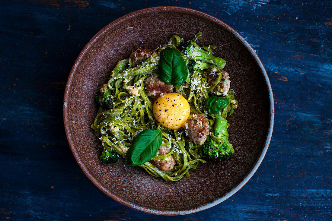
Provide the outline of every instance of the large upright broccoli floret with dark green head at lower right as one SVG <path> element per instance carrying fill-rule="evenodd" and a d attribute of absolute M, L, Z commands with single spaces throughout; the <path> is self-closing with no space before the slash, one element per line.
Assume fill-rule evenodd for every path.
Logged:
<path fill-rule="evenodd" d="M 209 159 L 225 160 L 234 154 L 234 148 L 228 141 L 227 120 L 219 113 L 215 114 L 214 136 L 208 136 L 202 146 L 202 155 Z"/>

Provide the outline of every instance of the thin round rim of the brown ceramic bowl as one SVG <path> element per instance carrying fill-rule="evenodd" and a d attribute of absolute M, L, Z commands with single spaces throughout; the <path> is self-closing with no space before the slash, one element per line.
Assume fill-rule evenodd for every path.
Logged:
<path fill-rule="evenodd" d="M 90 46 L 101 35 L 103 35 L 109 29 L 112 29 L 114 26 L 124 22 L 127 19 L 133 18 L 135 16 L 139 16 L 139 15 L 142 15 L 142 14 L 145 14 L 145 13 L 151 13 L 151 12 L 178 12 L 178 13 L 190 14 L 190 15 L 194 15 L 194 16 L 198 16 L 198 17 L 202 17 L 204 19 L 207 19 L 207 20 L 209 20 L 211 22 L 214 22 L 217 25 L 223 27 L 224 29 L 226 29 L 228 32 L 233 34 L 233 36 L 237 40 L 239 40 L 242 43 L 243 46 L 245 46 L 247 48 L 247 50 L 250 52 L 250 54 L 255 59 L 257 65 L 260 67 L 260 70 L 263 73 L 263 76 L 264 76 L 264 79 L 265 79 L 265 82 L 266 82 L 266 86 L 267 86 L 267 89 L 268 89 L 268 94 L 269 94 L 270 122 L 269 122 L 269 127 L 268 127 L 268 133 L 267 133 L 266 139 L 264 141 L 264 148 L 263 148 L 263 150 L 260 154 L 260 157 L 258 158 L 256 163 L 254 164 L 254 166 L 251 168 L 249 173 L 243 178 L 243 180 L 241 182 L 239 182 L 237 185 L 235 185 L 224 196 L 216 198 L 213 201 L 202 204 L 200 206 L 192 207 L 190 209 L 158 210 L 158 209 L 146 208 L 146 207 L 136 205 L 136 204 L 131 203 L 131 202 L 127 202 L 127 201 L 123 200 L 122 198 L 114 195 L 113 193 L 108 191 L 106 188 L 104 188 L 101 184 L 99 184 L 98 181 L 95 179 L 95 177 L 92 174 L 89 173 L 88 168 L 86 167 L 86 165 L 84 165 L 82 163 L 81 159 L 79 158 L 78 153 L 76 152 L 75 145 L 74 145 L 74 140 L 73 140 L 73 137 L 72 137 L 72 135 L 69 131 L 69 122 L 68 122 L 69 110 L 68 110 L 68 107 L 67 107 L 67 101 L 68 101 L 69 92 L 70 92 L 70 89 L 71 89 L 71 86 L 72 86 L 71 83 L 72 83 L 73 76 L 74 76 L 74 74 L 76 72 L 76 69 L 77 69 L 77 66 L 80 64 L 81 59 L 84 56 L 85 52 L 90 48 Z M 228 25 L 226 25 L 224 22 L 220 21 L 219 19 L 217 19 L 217 18 L 215 18 L 211 15 L 208 15 L 204 12 L 195 10 L 195 9 L 177 7 L 177 6 L 159 6 L 159 7 L 151 7 L 151 8 L 140 9 L 140 10 L 128 13 L 128 14 L 114 20 L 113 22 L 111 22 L 110 24 L 105 26 L 103 29 L 101 29 L 96 35 L 94 35 L 91 38 L 91 40 L 85 45 L 85 47 L 82 49 L 82 51 L 78 55 L 74 65 L 73 65 L 73 67 L 70 71 L 70 74 L 69 74 L 69 77 L 68 77 L 68 80 L 67 80 L 67 84 L 66 84 L 66 88 L 65 88 L 64 98 L 63 98 L 63 121 L 64 121 L 66 137 L 67 137 L 70 149 L 71 149 L 71 151 L 74 155 L 74 158 L 77 161 L 77 163 L 79 164 L 79 166 L 82 169 L 82 171 L 84 172 L 84 174 L 89 178 L 89 180 L 95 186 L 97 186 L 100 190 L 102 190 L 106 195 L 108 195 L 109 197 L 111 197 L 115 201 L 117 201 L 117 202 L 119 202 L 119 203 L 121 203 L 121 204 L 123 204 L 123 205 L 125 205 L 129 208 L 132 208 L 132 209 L 135 209 L 135 210 L 138 210 L 138 211 L 141 211 L 141 212 L 145 212 L 145 213 L 156 214 L 156 215 L 185 215 L 185 214 L 191 214 L 191 213 L 199 212 L 199 211 L 208 209 L 212 206 L 215 206 L 215 205 L 223 202 L 224 200 L 226 200 L 230 196 L 232 196 L 234 193 L 236 193 L 240 188 L 242 188 L 242 186 L 244 186 L 244 184 L 246 184 L 249 181 L 249 179 L 254 175 L 254 173 L 257 171 L 258 167 L 262 163 L 262 161 L 264 159 L 264 156 L 267 152 L 267 149 L 268 149 L 270 141 L 271 141 L 272 132 L 273 132 L 274 111 L 275 111 L 275 109 L 274 109 L 273 93 L 272 93 L 272 88 L 271 88 L 269 77 L 268 77 L 268 75 L 265 71 L 263 63 L 259 59 L 259 57 L 256 54 L 256 52 L 254 51 L 254 49 L 249 45 L 249 43 L 239 33 L 237 33 L 234 29 L 232 29 L 231 27 L 229 27 Z"/>

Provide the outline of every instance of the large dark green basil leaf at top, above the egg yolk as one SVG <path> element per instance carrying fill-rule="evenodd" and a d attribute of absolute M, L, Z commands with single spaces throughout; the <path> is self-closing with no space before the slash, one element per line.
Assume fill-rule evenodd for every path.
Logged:
<path fill-rule="evenodd" d="M 160 51 L 159 77 L 174 87 L 179 87 L 187 79 L 188 67 L 178 49 L 166 47 Z"/>

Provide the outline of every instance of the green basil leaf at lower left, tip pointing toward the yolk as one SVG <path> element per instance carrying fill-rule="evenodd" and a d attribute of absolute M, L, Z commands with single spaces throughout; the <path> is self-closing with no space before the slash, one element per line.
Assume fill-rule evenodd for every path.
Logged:
<path fill-rule="evenodd" d="M 151 160 L 157 154 L 162 141 L 161 129 L 145 129 L 140 132 L 126 153 L 128 164 L 138 166 Z"/>

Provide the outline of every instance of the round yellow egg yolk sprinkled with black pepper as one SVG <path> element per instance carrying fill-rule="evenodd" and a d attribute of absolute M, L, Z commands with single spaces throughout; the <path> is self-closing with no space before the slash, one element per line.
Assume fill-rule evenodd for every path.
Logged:
<path fill-rule="evenodd" d="M 169 129 L 179 129 L 190 115 L 190 106 L 183 96 L 169 93 L 154 102 L 153 115 L 161 125 Z"/>

